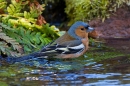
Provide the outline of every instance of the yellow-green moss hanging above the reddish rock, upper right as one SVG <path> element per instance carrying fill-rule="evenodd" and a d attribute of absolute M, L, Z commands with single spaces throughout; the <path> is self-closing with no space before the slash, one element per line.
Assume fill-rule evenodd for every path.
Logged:
<path fill-rule="evenodd" d="M 65 12 L 70 19 L 69 25 L 77 20 L 90 21 L 101 18 L 104 21 L 110 13 L 116 11 L 124 0 L 65 0 Z"/>

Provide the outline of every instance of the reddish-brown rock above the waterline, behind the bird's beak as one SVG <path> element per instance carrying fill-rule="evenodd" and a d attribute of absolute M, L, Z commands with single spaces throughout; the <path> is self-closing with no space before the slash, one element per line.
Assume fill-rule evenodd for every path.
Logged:
<path fill-rule="evenodd" d="M 129 38 L 130 37 L 130 8 L 119 8 L 104 22 L 95 19 L 89 22 L 98 32 L 100 38 Z"/>

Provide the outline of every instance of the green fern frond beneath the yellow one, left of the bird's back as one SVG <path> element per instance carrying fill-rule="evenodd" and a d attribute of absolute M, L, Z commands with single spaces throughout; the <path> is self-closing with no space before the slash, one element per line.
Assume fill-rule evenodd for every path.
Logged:
<path fill-rule="evenodd" d="M 0 25 L 4 28 L 5 33 L 10 37 L 15 39 L 16 41 L 11 40 L 10 38 L 6 38 L 6 34 L 4 35 L 5 40 L 8 39 L 8 43 L 14 42 L 13 44 L 19 43 L 23 45 L 25 52 L 32 52 L 35 50 L 41 49 L 42 46 L 46 45 L 47 43 L 51 42 L 51 38 L 47 37 L 46 34 L 43 34 L 42 32 L 35 32 L 32 30 L 27 30 L 24 27 L 18 27 L 18 28 L 11 28 L 3 23 L 0 23 Z M 16 42 L 16 43 L 15 43 Z M 18 44 L 18 45 L 19 45 Z"/>

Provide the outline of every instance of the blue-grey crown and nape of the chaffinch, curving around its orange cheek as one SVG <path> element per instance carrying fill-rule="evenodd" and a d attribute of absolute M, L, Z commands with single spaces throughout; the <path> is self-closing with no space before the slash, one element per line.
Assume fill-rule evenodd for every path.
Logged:
<path fill-rule="evenodd" d="M 89 27 L 89 25 L 82 21 L 75 22 L 70 29 L 68 30 L 68 34 L 76 39 L 81 39 L 79 36 L 75 34 L 75 29 L 77 29 L 79 26 Z"/>

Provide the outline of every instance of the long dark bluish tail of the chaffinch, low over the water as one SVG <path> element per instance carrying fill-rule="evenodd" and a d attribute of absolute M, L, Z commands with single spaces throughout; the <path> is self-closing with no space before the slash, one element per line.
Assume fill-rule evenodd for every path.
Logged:
<path fill-rule="evenodd" d="M 25 61 L 25 60 L 38 58 L 38 57 L 41 57 L 41 56 L 45 56 L 45 55 L 42 54 L 42 53 L 39 53 L 39 52 L 35 52 L 35 53 L 29 54 L 29 55 L 26 55 L 26 56 L 21 56 L 21 57 L 8 57 L 6 59 L 6 61 L 8 63 L 15 63 L 15 62 L 22 62 L 22 61 Z"/>

